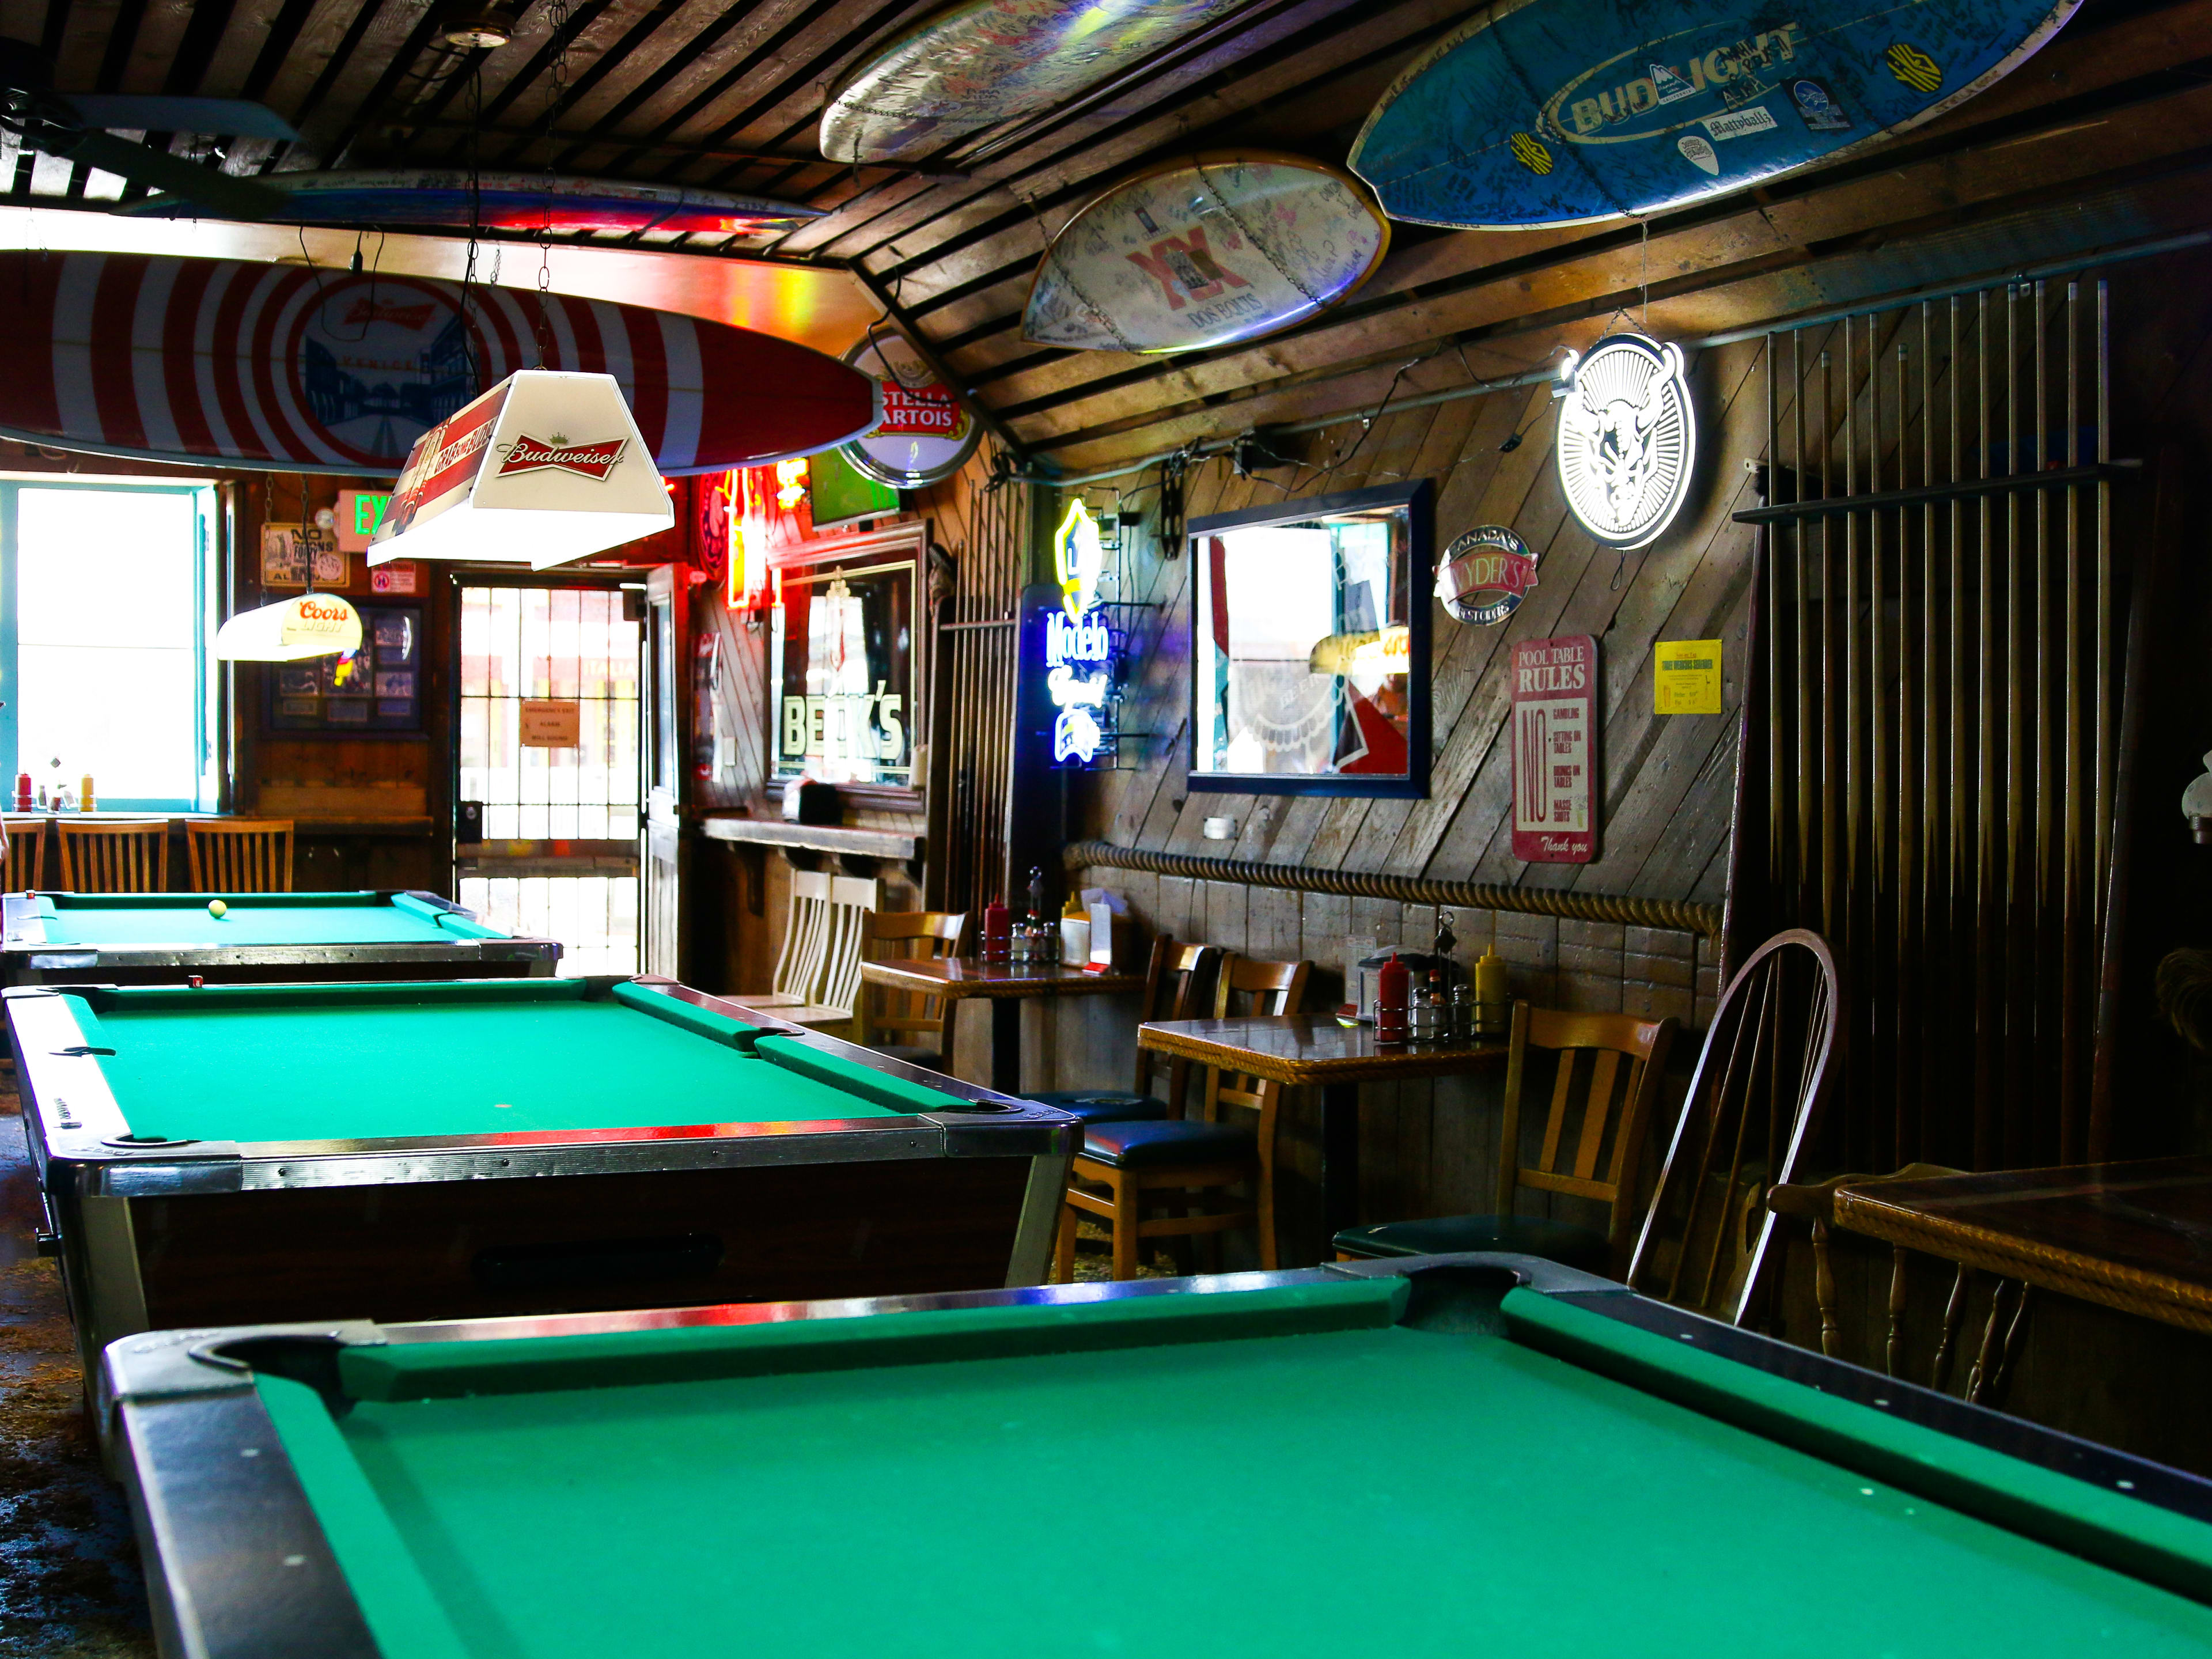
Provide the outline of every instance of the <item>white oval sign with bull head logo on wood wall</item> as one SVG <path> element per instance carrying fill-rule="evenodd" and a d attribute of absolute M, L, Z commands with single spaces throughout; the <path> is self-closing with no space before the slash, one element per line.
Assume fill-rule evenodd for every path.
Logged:
<path fill-rule="evenodd" d="M 1648 546 L 1674 522 L 1697 467 L 1681 347 L 1608 334 L 1568 358 L 1568 376 L 1557 442 L 1566 504 L 1606 546 Z"/>

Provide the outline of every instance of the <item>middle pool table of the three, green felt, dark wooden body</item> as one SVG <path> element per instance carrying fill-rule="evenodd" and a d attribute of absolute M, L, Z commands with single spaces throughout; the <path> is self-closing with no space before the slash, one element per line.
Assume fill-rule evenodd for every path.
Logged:
<path fill-rule="evenodd" d="M 86 1376 L 170 1325 L 1037 1283 L 1073 1150 L 670 980 L 0 1002 Z"/>

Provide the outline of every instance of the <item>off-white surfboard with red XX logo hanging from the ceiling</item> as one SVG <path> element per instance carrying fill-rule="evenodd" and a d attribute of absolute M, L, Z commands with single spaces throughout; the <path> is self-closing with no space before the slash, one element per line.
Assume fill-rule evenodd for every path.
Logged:
<path fill-rule="evenodd" d="M 1358 179 L 1298 155 L 1186 155 L 1106 190 L 1053 237 L 1022 338 L 1192 352 L 1290 327 L 1367 281 L 1389 221 Z"/>

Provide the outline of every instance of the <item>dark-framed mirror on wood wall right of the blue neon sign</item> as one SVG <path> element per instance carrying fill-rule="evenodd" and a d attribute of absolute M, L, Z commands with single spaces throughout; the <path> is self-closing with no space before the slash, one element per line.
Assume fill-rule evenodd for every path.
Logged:
<path fill-rule="evenodd" d="M 1429 794 L 1429 482 L 1186 526 L 1190 787 Z"/>

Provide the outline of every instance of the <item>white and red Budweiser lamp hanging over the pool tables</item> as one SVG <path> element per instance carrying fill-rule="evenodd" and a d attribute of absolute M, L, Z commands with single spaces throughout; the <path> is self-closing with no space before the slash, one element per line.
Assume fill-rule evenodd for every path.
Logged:
<path fill-rule="evenodd" d="M 675 524 L 611 374 L 518 369 L 425 431 L 369 542 L 369 564 L 553 564 Z"/>

